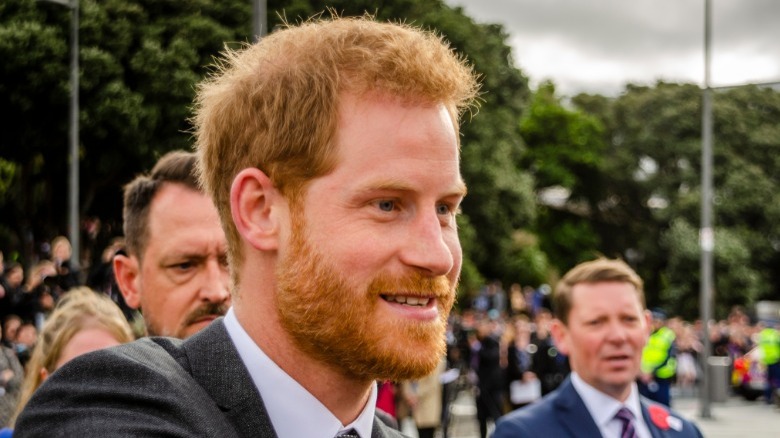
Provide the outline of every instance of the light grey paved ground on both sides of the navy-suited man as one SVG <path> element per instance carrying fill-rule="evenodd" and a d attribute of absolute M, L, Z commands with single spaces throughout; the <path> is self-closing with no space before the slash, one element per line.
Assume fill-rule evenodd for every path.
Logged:
<path fill-rule="evenodd" d="M 673 408 L 693 420 L 706 438 L 764 438 L 780 437 L 780 409 L 763 401 L 749 402 L 731 397 L 725 402 L 710 404 L 710 418 L 701 418 L 699 400 L 693 395 L 677 396 Z M 449 438 L 479 438 L 474 399 L 468 391 L 461 391 L 452 406 L 453 421 Z M 404 421 L 403 432 L 416 438 L 411 420 Z M 441 437 L 437 432 L 437 437 Z"/>

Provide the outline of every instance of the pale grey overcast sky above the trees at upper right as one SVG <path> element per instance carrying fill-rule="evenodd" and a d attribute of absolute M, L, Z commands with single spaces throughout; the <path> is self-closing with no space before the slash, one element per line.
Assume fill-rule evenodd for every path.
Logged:
<path fill-rule="evenodd" d="M 704 0 L 446 0 L 500 23 L 531 86 L 618 94 L 704 83 Z M 711 0 L 711 85 L 780 81 L 780 0 Z"/>

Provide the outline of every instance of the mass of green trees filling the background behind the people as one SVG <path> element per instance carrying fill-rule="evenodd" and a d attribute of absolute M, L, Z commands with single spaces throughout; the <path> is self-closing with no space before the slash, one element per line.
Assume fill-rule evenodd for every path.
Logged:
<path fill-rule="evenodd" d="M 111 237 L 121 232 L 122 185 L 168 150 L 190 147 L 195 86 L 226 44 L 252 39 L 251 2 L 80 4 L 80 213 L 99 218 L 101 235 Z M 466 293 L 493 279 L 554 281 L 604 255 L 637 269 L 649 305 L 696 316 L 698 86 L 629 84 L 617 97 L 563 100 L 553 83 L 529 89 L 501 26 L 478 24 L 441 0 L 267 6 L 271 31 L 323 11 L 432 29 L 480 74 L 481 106 L 461 127 Z M 69 17 L 56 4 L 0 3 L 0 248 L 23 259 L 66 225 Z M 723 315 L 734 304 L 780 298 L 780 93 L 745 86 L 718 91 L 713 102 Z M 85 228 L 88 245 L 93 232 Z"/>

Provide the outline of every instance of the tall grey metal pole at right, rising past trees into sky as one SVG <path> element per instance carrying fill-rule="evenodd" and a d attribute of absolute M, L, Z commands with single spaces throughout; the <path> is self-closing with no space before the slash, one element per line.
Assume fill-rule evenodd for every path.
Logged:
<path fill-rule="evenodd" d="M 710 418 L 711 380 L 709 321 L 712 319 L 712 253 L 715 249 L 715 233 L 712 228 L 712 90 L 710 88 L 710 38 L 712 36 L 712 8 L 710 0 L 704 1 L 704 90 L 702 95 L 702 148 L 701 148 L 701 290 L 699 306 L 701 310 L 703 351 L 701 354 L 702 380 L 699 397 L 701 399 L 701 417 Z"/>

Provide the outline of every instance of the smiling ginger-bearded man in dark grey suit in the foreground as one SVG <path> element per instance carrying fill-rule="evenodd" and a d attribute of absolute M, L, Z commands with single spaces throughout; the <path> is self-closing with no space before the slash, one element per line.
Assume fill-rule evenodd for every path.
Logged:
<path fill-rule="evenodd" d="M 433 33 L 370 17 L 289 26 L 223 59 L 194 121 L 233 307 L 185 341 L 75 359 L 20 437 L 395 437 L 376 381 L 440 363 L 471 67 Z"/>

